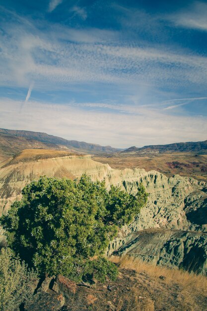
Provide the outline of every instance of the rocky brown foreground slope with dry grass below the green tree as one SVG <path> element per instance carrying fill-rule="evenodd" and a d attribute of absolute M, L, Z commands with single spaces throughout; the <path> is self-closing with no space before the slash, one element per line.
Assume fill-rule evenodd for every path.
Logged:
<path fill-rule="evenodd" d="M 124 263 L 127 266 L 126 263 Z M 129 261 L 128 261 L 129 265 Z M 137 266 L 137 268 L 136 268 Z M 46 278 L 22 310 L 25 311 L 205 311 L 207 279 L 186 275 L 180 281 L 173 270 L 150 266 L 121 268 L 118 279 L 104 284 L 76 284 L 69 279 Z M 168 273 L 166 274 L 166 271 Z M 163 272 L 163 273 L 162 273 Z M 181 273 L 181 272 L 178 272 Z M 164 275 L 162 275 L 164 274 Z M 184 273 L 185 275 L 185 273 Z M 184 278 L 184 279 L 185 279 Z M 203 279 L 201 279 L 203 278 Z M 202 286 L 201 283 L 203 283 Z M 184 285 L 185 284 L 185 285 Z"/>

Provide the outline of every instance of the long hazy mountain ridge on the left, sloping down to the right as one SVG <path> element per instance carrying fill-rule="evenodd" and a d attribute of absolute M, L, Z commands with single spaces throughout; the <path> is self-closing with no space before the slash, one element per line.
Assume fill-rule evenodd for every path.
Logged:
<path fill-rule="evenodd" d="M 64 147 L 69 150 L 92 154 L 113 153 L 121 150 L 111 146 L 103 147 L 85 142 L 69 141 L 41 132 L 0 129 L 0 150 L 4 154 L 13 155 L 27 148 L 64 149 Z"/>

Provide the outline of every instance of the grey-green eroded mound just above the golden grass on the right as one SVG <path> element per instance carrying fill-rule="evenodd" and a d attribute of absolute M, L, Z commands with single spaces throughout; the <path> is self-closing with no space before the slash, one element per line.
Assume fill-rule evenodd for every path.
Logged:
<path fill-rule="evenodd" d="M 114 255 L 132 255 L 169 268 L 207 274 L 207 233 L 151 229 L 128 236 Z"/>

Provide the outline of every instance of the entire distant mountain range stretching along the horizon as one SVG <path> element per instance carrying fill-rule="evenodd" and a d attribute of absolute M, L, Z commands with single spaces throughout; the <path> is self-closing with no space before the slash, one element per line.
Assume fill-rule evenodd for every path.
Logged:
<path fill-rule="evenodd" d="M 196 152 L 207 154 L 207 140 L 204 142 L 176 143 L 169 145 L 151 145 L 142 148 L 130 147 L 126 150 L 100 146 L 41 132 L 0 129 L 0 155 L 13 156 L 24 149 L 55 149 L 86 154 L 125 154 L 125 155 L 158 155 L 173 152 Z"/>

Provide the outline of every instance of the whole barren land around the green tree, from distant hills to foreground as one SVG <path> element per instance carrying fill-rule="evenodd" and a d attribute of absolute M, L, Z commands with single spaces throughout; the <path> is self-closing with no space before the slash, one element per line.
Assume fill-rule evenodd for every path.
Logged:
<path fill-rule="evenodd" d="M 148 201 L 106 249 L 105 255 L 120 265 L 118 281 L 110 283 L 113 290 L 103 285 L 96 289 L 78 287 L 73 307 L 61 309 L 57 301 L 60 295 L 54 294 L 50 285 L 46 296 L 43 292 L 36 295 L 26 310 L 48 310 L 44 309 L 49 308 L 45 307 L 46 301 L 58 304 L 60 308 L 54 310 L 100 310 L 101 304 L 102 310 L 205 310 L 206 278 L 202 275 L 207 275 L 206 142 L 185 146 L 184 151 L 169 151 L 168 147 L 166 151 L 120 151 L 99 145 L 89 147 L 86 143 L 72 146 L 71 141 L 66 143 L 56 137 L 53 141 L 53 137 L 42 134 L 1 130 L 1 215 L 21 197 L 27 183 L 42 175 L 78 179 L 87 173 L 92 180 L 105 179 L 108 188 L 114 184 L 131 193 L 136 193 L 142 183 Z M 5 243 L 2 231 L 0 240 Z M 120 255 L 126 260 L 120 261 Z M 199 294 L 194 297 L 189 291 Z M 85 297 L 95 300 L 88 303 Z"/>

